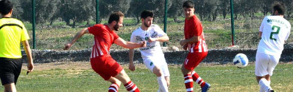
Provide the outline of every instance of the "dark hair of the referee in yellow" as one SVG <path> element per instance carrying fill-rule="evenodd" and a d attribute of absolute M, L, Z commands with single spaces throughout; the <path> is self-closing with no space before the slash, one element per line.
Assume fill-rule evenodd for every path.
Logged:
<path fill-rule="evenodd" d="M 13 5 L 11 1 L 9 0 L 1 0 L 0 1 L 0 13 L 1 15 L 7 15 L 11 9 L 13 8 Z"/>

